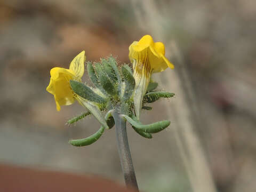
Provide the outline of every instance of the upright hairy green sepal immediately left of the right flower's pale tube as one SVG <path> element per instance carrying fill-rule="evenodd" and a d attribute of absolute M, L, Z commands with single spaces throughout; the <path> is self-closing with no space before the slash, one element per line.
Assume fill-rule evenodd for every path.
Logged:
<path fill-rule="evenodd" d="M 123 73 L 124 82 L 125 82 L 125 89 L 124 89 L 124 95 L 123 95 L 124 101 L 127 101 L 128 99 L 130 99 L 135 87 L 135 79 L 130 71 L 131 69 L 129 70 L 127 68 L 130 68 L 130 67 L 122 66 L 122 73 Z"/>

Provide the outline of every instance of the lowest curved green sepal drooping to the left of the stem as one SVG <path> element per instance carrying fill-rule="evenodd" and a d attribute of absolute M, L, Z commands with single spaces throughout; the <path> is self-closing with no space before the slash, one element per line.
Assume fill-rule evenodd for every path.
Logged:
<path fill-rule="evenodd" d="M 101 137 L 104 130 L 105 128 L 101 125 L 100 129 L 96 133 L 92 134 L 91 136 L 84 139 L 73 139 L 68 141 L 68 143 L 76 147 L 91 145 Z"/>

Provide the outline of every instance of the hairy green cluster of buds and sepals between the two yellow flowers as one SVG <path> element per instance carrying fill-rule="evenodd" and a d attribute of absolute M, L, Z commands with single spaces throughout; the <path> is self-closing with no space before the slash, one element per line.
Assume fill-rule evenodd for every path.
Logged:
<path fill-rule="evenodd" d="M 87 73 L 94 87 L 90 87 L 78 81 L 70 81 L 70 86 L 77 97 L 80 98 L 81 104 L 89 111 L 70 119 L 67 123 L 73 124 L 88 115 L 93 115 L 101 123 L 100 129 L 84 139 L 70 140 L 73 146 L 87 146 L 97 141 L 105 129 L 111 129 L 115 125 L 113 111 L 116 106 L 121 106 L 121 117 L 126 119 L 135 132 L 145 138 L 152 138 L 152 133 L 164 130 L 170 125 L 170 121 L 159 121 L 153 124 L 143 125 L 133 112 L 133 92 L 135 79 L 132 69 L 128 65 L 117 67 L 115 58 L 109 57 L 102 59 L 100 62 L 87 62 Z M 157 101 L 159 98 L 170 98 L 174 93 L 155 91 L 158 84 L 150 82 L 147 92 L 143 98 L 142 109 L 151 110 L 147 103 Z M 105 117 L 103 111 L 107 111 Z"/>

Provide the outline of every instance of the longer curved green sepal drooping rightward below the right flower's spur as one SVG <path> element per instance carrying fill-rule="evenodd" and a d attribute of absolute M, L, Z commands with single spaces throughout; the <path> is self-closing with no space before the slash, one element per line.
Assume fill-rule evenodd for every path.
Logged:
<path fill-rule="evenodd" d="M 148 125 L 142 125 L 140 122 L 134 121 L 131 117 L 127 115 L 121 116 L 123 116 L 132 126 L 136 127 L 139 131 L 145 133 L 158 133 L 159 131 L 164 130 L 171 123 L 170 121 L 159 121 Z"/>

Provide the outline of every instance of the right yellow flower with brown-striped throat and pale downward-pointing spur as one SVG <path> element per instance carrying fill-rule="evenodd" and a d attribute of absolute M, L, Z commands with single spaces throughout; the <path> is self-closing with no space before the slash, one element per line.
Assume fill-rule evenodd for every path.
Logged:
<path fill-rule="evenodd" d="M 167 67 L 174 68 L 164 55 L 164 44 L 162 42 L 154 43 L 150 35 L 143 36 L 139 42 L 135 41 L 129 47 L 129 58 L 133 63 L 133 76 L 136 83 L 133 100 L 138 119 L 151 74 L 162 72 Z"/>

